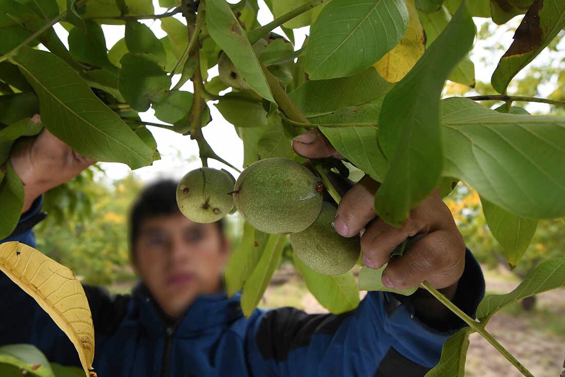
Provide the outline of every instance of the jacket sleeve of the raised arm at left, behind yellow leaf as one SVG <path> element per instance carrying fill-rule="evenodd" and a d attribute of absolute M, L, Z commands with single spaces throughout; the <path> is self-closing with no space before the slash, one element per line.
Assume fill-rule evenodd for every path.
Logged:
<path fill-rule="evenodd" d="M 43 220 L 40 212 L 42 196 L 21 215 L 18 226 L 10 237 L 0 243 L 19 241 L 35 247 L 32 228 Z M 110 297 L 106 290 L 83 285 L 92 311 L 97 348 L 118 327 L 129 297 Z M 43 352 L 47 359 L 63 365 L 80 366 L 78 354 L 71 341 L 34 299 L 0 272 L 0 345 L 27 343 Z"/>

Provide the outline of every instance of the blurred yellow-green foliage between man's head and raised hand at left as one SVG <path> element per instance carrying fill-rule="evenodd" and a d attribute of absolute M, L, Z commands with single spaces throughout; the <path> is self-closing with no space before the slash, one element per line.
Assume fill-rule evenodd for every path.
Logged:
<path fill-rule="evenodd" d="M 37 247 L 89 284 L 131 280 L 129 206 L 142 182 L 129 175 L 110 184 L 89 169 L 45 194 L 47 219 L 34 229 Z"/>

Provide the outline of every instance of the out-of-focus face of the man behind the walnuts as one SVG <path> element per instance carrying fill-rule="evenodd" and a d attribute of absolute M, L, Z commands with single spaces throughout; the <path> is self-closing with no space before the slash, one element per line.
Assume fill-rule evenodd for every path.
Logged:
<path fill-rule="evenodd" d="M 218 292 L 229 244 L 216 224 L 162 215 L 138 234 L 134 268 L 167 315 L 179 318 L 198 295 Z"/>

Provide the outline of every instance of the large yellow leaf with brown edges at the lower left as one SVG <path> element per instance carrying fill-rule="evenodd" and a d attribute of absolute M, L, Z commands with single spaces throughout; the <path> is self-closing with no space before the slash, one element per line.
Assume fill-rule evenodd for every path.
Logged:
<path fill-rule="evenodd" d="M 72 271 L 19 242 L 0 245 L 0 270 L 31 295 L 66 333 L 79 352 L 86 376 L 95 377 L 92 313 Z"/>

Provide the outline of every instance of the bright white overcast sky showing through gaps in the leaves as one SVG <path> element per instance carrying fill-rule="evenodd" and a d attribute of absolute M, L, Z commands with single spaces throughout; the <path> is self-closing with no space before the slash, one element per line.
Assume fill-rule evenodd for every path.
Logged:
<path fill-rule="evenodd" d="M 228 1 L 233 3 L 237 2 L 233 0 Z M 166 11 L 166 8 L 159 7 L 157 0 L 154 0 L 154 6 L 156 14 Z M 181 20 L 181 22 L 185 23 L 182 16 L 175 15 L 175 17 Z M 268 10 L 263 0 L 259 0 L 258 19 L 261 24 L 271 22 L 273 19 L 271 12 Z M 512 25 L 510 31 L 507 31 L 506 27 L 497 28 L 496 25 L 493 24 L 491 28 L 494 32 L 494 36 L 492 38 L 489 38 L 488 41 L 476 41 L 475 46 L 472 50 L 471 59 L 475 63 L 475 74 L 477 80 L 489 82 L 490 76 L 492 75 L 494 68 L 496 68 L 498 60 L 500 58 L 500 56 L 493 56 L 492 50 L 485 49 L 484 47 L 492 46 L 496 41 L 504 47 L 504 50 L 506 50 L 512 42 L 514 28 L 518 26 L 520 19 L 521 16 L 518 16 L 511 20 L 511 22 L 509 23 L 510 25 Z M 479 28 L 480 25 L 485 22 L 485 20 L 486 19 L 476 18 L 475 22 L 477 24 L 477 28 Z M 159 20 L 142 20 L 142 22 L 148 25 L 158 38 L 166 35 L 166 33 L 160 28 Z M 492 23 L 490 19 L 489 22 Z M 108 49 L 110 49 L 118 40 L 124 37 L 123 25 L 102 25 L 102 28 L 105 33 Z M 63 42 L 66 43 L 68 35 L 67 31 L 59 24 L 55 25 L 55 30 L 63 40 Z M 295 29 L 294 36 L 296 41 L 296 49 L 299 49 L 301 47 L 308 31 L 308 27 Z M 275 29 L 275 32 L 282 34 L 280 28 L 278 30 Z M 542 53 L 536 58 L 536 61 L 534 61 L 533 63 L 542 62 L 547 64 L 548 60 L 549 58 L 547 57 L 547 54 Z M 558 64 L 559 61 L 553 63 Z M 209 74 L 210 77 L 216 76 L 218 75 L 218 71 L 214 67 L 209 71 Z M 180 75 L 176 75 L 175 78 L 173 78 L 173 84 L 177 82 L 179 77 Z M 519 77 L 520 76 L 518 76 L 518 78 Z M 192 91 L 192 83 L 186 83 L 181 89 Z M 549 95 L 549 93 L 553 90 L 551 85 L 549 85 L 549 87 L 547 88 L 541 89 L 542 91 L 546 91 L 546 93 L 542 93 L 542 95 Z M 208 102 L 208 105 L 210 105 L 212 122 L 203 128 L 203 134 L 208 143 L 210 143 L 211 147 L 216 153 L 218 153 L 220 157 L 223 157 L 225 160 L 231 162 L 231 164 L 233 164 L 234 166 L 241 167 L 243 162 L 243 145 L 241 143 L 241 140 L 240 138 L 238 138 L 234 127 L 230 123 L 225 121 L 221 117 L 221 114 L 218 112 L 215 106 L 212 105 L 212 103 L 214 102 L 215 101 Z M 544 104 L 529 104 L 528 110 L 530 110 L 531 112 L 544 110 L 547 111 L 544 106 Z M 145 113 L 140 113 L 140 116 L 141 119 L 146 122 L 162 123 L 157 118 L 155 118 L 153 114 L 153 110 L 150 109 Z M 195 158 L 198 156 L 197 144 L 196 142 L 194 142 L 194 140 L 190 140 L 189 136 L 182 136 L 180 134 L 176 134 L 175 132 L 163 130 L 162 128 L 158 127 L 150 126 L 148 128 L 151 130 L 151 132 L 153 132 L 153 135 L 157 140 L 158 149 L 162 158 L 159 161 L 155 161 L 152 166 L 147 166 L 145 168 L 135 170 L 134 175 L 137 175 L 143 181 L 151 181 L 152 179 L 163 176 L 178 179 L 189 170 L 201 166 L 199 158 Z M 211 167 L 228 169 L 237 177 L 237 172 L 228 168 L 227 166 L 224 166 L 220 162 L 208 159 L 208 165 Z M 124 164 L 105 162 L 101 163 L 101 166 L 106 170 L 107 177 L 110 179 L 120 179 L 129 174 L 129 168 Z"/>

